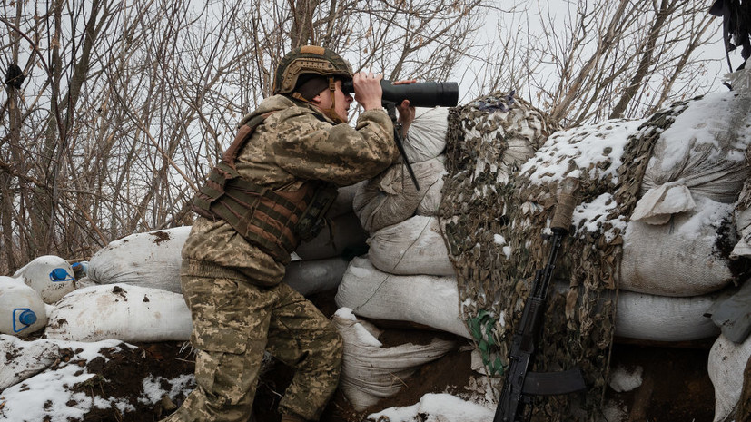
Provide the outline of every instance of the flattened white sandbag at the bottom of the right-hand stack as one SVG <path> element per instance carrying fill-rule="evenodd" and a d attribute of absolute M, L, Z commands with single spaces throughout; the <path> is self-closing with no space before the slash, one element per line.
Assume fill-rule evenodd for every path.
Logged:
<path fill-rule="evenodd" d="M 716 298 L 716 295 L 672 298 L 620 290 L 616 336 L 666 342 L 714 337 L 720 330 L 704 314 Z"/>

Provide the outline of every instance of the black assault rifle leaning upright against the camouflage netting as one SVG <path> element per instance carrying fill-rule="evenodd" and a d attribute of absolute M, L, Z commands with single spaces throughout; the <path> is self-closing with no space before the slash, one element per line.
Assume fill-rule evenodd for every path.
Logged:
<path fill-rule="evenodd" d="M 525 407 L 532 401 L 531 396 L 552 396 L 570 394 L 587 389 L 581 369 L 571 368 L 561 372 L 531 372 L 531 364 L 536 352 L 539 334 L 542 332 L 548 288 L 556 268 L 556 258 L 561 240 L 568 234 L 574 211 L 574 192 L 578 181 L 567 179 L 563 191 L 558 195 L 558 204 L 550 230 L 553 231 L 552 246 L 548 264 L 537 270 L 529 298 L 524 304 L 519 326 L 514 334 L 509 350 L 509 367 L 506 380 L 500 393 L 496 416 L 493 422 L 519 422 L 529 420 Z"/>

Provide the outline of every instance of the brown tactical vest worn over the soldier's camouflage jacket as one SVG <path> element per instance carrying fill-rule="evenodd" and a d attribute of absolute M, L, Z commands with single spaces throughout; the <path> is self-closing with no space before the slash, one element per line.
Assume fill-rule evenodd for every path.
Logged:
<path fill-rule="evenodd" d="M 198 191 L 193 211 L 226 221 L 245 240 L 287 264 L 301 240 L 311 240 L 321 231 L 323 215 L 336 199 L 337 190 L 331 182 L 308 181 L 298 191 L 274 191 L 242 178 L 235 167 L 237 155 L 272 113 L 255 116 L 242 125 Z"/>

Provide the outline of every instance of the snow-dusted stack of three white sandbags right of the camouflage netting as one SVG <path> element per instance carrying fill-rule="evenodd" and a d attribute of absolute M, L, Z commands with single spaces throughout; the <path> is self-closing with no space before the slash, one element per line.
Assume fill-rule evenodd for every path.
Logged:
<path fill-rule="evenodd" d="M 622 336 L 681 341 L 718 333 L 705 313 L 737 281 L 730 250 L 748 177 L 749 112 L 745 95 L 709 95 L 687 103 L 660 134 L 628 219 L 619 284 L 626 296 L 618 312 L 627 299 L 635 316 L 648 319 L 621 324 Z"/>

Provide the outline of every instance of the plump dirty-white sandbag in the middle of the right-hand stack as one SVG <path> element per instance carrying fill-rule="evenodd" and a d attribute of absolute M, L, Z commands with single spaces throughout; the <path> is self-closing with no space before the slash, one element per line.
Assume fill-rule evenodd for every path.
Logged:
<path fill-rule="evenodd" d="M 733 206 L 694 198 L 696 209 L 674 215 L 667 224 L 628 222 L 620 289 L 692 297 L 720 290 L 733 280 L 730 260 L 717 248 L 728 235 Z"/>

